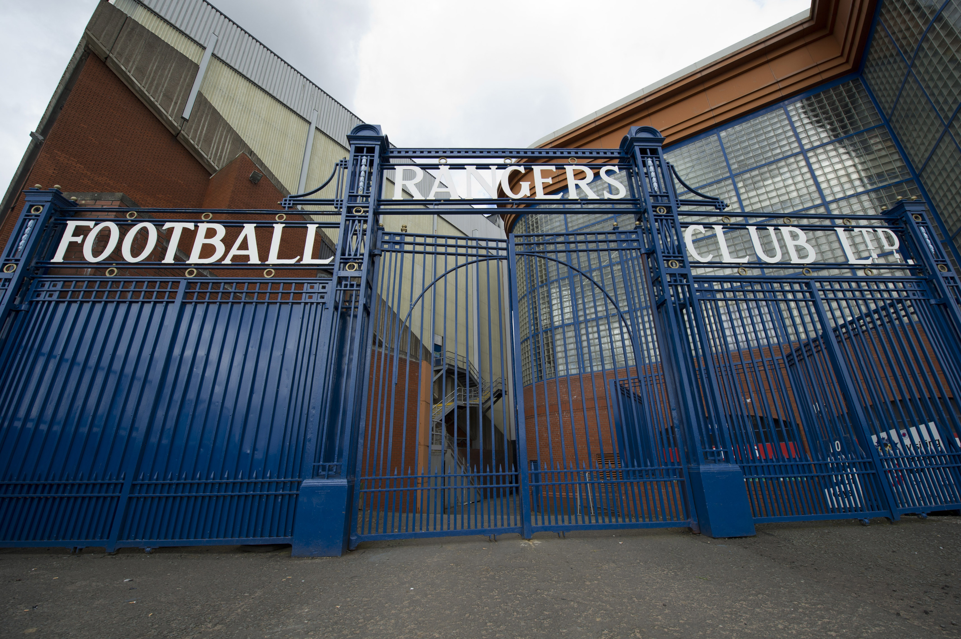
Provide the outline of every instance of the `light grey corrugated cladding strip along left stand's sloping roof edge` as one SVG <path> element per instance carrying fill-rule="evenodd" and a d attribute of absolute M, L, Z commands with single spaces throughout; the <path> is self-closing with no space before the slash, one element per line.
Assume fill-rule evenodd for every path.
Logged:
<path fill-rule="evenodd" d="M 115 6 L 132 13 L 136 5 L 156 12 L 202 47 L 210 32 L 217 34 L 213 55 L 225 61 L 308 122 L 318 112 L 317 128 L 339 143 L 362 120 L 310 82 L 297 69 L 203 0 L 117 0 Z M 173 42 L 171 42 L 173 44 Z M 176 46 L 176 45 L 175 45 Z M 179 48 L 179 47 L 178 47 Z"/>

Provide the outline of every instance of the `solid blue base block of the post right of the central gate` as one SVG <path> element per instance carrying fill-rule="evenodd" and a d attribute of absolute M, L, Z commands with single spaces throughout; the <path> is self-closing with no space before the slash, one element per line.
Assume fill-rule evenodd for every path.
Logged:
<path fill-rule="evenodd" d="M 688 475 L 702 534 L 713 538 L 755 534 L 748 490 L 740 466 L 690 466 Z"/>

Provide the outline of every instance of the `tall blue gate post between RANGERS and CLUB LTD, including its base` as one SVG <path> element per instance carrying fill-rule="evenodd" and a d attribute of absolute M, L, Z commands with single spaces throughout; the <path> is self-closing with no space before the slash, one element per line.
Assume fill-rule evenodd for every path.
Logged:
<path fill-rule="evenodd" d="M 653 127 L 631 127 L 621 150 L 630 157 L 640 187 L 635 197 L 645 235 L 644 270 L 671 412 L 686 443 L 691 518 L 696 515 L 696 526 L 711 537 L 750 536 L 754 522 L 748 490 L 741 468 L 730 463 L 727 417 L 703 342 L 706 327 L 663 143 Z"/>

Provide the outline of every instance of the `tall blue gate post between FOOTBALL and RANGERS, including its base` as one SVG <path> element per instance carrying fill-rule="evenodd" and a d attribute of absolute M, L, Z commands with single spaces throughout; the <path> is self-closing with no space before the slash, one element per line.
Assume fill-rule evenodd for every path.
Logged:
<path fill-rule="evenodd" d="M 351 146 L 333 261 L 332 291 L 322 320 L 328 339 L 316 457 L 305 459 L 294 517 L 292 556 L 340 556 L 348 550 L 357 504 L 357 452 L 363 441 L 370 366 L 370 311 L 380 242 L 374 212 L 381 196 L 381 127 L 361 124 Z M 321 345 L 321 349 L 323 345 Z M 308 447 L 311 450 L 311 447 Z"/>

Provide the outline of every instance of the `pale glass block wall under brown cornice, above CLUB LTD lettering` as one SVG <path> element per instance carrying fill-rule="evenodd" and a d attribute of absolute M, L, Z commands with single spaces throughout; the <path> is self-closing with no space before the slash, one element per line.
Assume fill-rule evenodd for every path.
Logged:
<path fill-rule="evenodd" d="M 843 217 L 921 195 L 856 79 L 682 142 L 665 156 L 684 182 L 726 200 L 727 214 L 817 210 Z M 630 215 L 623 217 L 621 228 L 633 224 Z M 609 230 L 614 221 L 590 213 L 527 215 L 514 233 Z"/>

